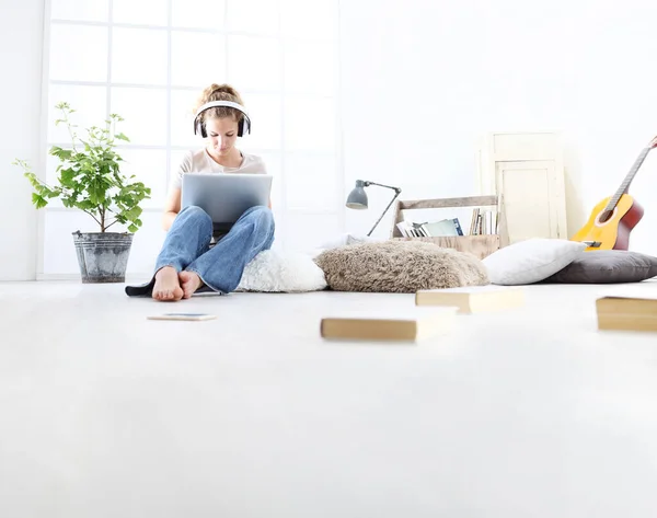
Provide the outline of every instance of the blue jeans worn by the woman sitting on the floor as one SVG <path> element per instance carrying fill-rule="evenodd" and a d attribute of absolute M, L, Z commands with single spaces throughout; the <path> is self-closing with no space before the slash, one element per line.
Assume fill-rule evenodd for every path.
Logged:
<path fill-rule="evenodd" d="M 210 248 L 212 219 L 200 207 L 185 207 L 169 229 L 155 262 L 155 273 L 164 266 L 172 266 L 176 272 L 195 272 L 209 289 L 229 293 L 240 285 L 251 260 L 272 248 L 274 230 L 272 210 L 264 206 L 252 207 Z M 126 287 L 126 293 L 150 296 L 154 284 L 153 277 L 148 285 Z"/>

